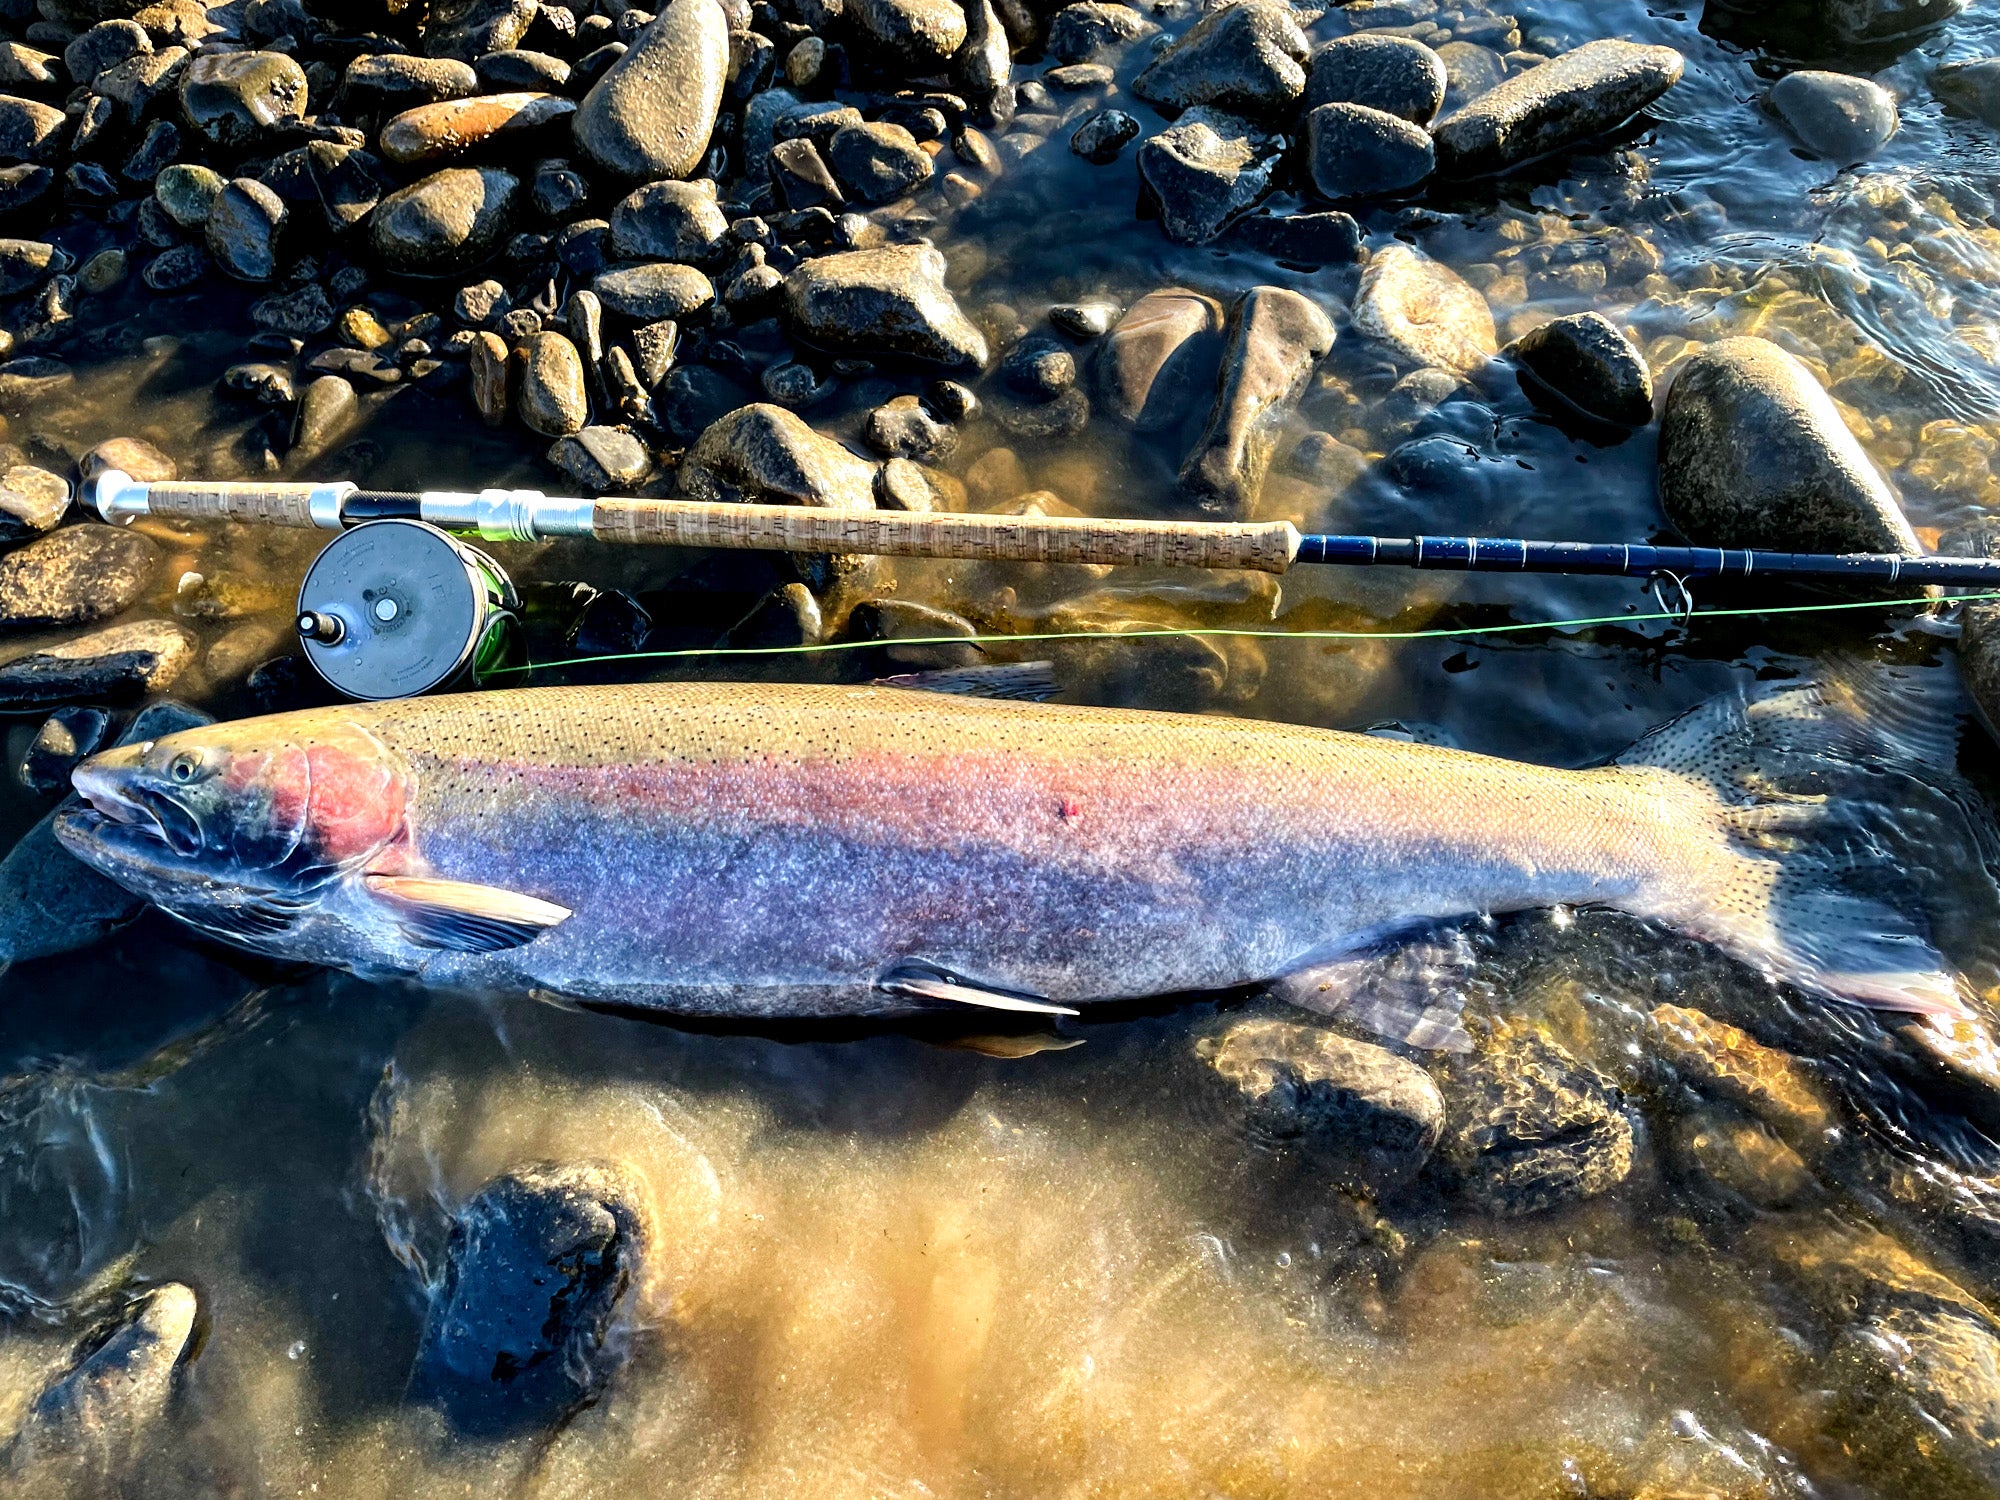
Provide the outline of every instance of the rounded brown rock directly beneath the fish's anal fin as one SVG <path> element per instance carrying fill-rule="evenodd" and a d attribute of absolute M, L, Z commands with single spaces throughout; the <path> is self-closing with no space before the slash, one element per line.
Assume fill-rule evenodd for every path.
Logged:
<path fill-rule="evenodd" d="M 1382 1046 L 1250 1018 L 1202 1038 L 1196 1052 L 1234 1090 L 1260 1146 L 1300 1154 L 1336 1186 L 1402 1186 L 1444 1134 L 1430 1074 Z"/>

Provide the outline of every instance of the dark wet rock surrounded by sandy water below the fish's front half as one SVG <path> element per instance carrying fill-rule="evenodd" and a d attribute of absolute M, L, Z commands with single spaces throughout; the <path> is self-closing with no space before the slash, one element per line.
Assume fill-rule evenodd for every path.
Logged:
<path fill-rule="evenodd" d="M 494 1178 L 454 1214 L 410 1396 L 468 1432 L 550 1430 L 616 1364 L 610 1340 L 652 1226 L 610 1164 Z"/>

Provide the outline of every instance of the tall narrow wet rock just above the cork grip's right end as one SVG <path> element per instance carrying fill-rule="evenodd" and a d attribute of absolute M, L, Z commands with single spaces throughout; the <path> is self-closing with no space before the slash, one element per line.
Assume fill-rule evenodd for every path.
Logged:
<path fill-rule="evenodd" d="M 1334 324 L 1318 304 L 1278 286 L 1250 288 L 1230 312 L 1222 382 L 1208 426 L 1180 466 L 1182 492 L 1210 514 L 1246 520 L 1264 488 L 1278 424 L 1332 346 Z"/>

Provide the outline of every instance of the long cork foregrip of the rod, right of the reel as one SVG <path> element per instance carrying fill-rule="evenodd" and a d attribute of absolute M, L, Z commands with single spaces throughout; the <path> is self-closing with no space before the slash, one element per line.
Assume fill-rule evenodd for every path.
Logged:
<path fill-rule="evenodd" d="M 1158 568 L 1284 572 L 1298 530 L 1284 520 L 1090 520 L 1084 516 L 966 516 L 906 510 L 822 510 L 712 500 L 606 496 L 592 512 L 600 542 L 652 546 L 858 552 L 872 556 L 1094 562 Z"/>

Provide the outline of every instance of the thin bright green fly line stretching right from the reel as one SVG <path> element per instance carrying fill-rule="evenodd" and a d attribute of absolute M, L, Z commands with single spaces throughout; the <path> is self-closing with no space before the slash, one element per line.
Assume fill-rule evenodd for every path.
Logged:
<path fill-rule="evenodd" d="M 1976 604 L 1980 600 L 2000 600 L 1992 594 L 1960 594 L 1952 604 Z M 540 672 L 562 666 L 592 666 L 598 662 L 660 662 L 692 656 L 820 656 L 828 652 L 880 650 L 882 646 L 1026 646 L 1052 640 L 1178 640 L 1188 636 L 1232 636 L 1238 640 L 1454 640 L 1466 636 L 1508 636 L 1526 630 L 1588 630 L 1592 626 L 1628 626 L 1672 620 L 1692 624 L 1696 620 L 1726 620 L 1762 614 L 1834 614 L 1840 610 L 1892 610 L 1908 604 L 1938 604 L 1930 596 L 1846 600 L 1830 604 L 1764 604 L 1738 610 L 1656 610 L 1650 614 L 1596 614 L 1576 620 L 1518 620 L 1496 626 L 1440 626 L 1434 630 L 1252 630 L 1246 626 L 1158 626 L 1148 630 L 1030 630 L 1022 634 L 976 634 L 976 636 L 896 636 L 894 640 L 822 640 L 800 646 L 682 646 L 662 652 L 618 652 L 614 656 L 568 656 L 554 662 L 522 662 L 516 666 L 496 666 L 484 676 L 504 676 L 514 672 Z"/>

